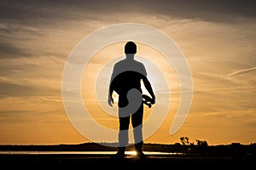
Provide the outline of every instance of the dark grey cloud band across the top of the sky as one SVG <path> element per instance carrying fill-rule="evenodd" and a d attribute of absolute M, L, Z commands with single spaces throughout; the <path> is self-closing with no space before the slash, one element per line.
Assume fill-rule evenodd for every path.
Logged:
<path fill-rule="evenodd" d="M 49 1 L 24 0 L 1 1 L 0 20 L 53 21 L 96 18 L 96 14 L 166 14 L 178 18 L 230 21 L 237 16 L 255 17 L 253 0 L 160 0 L 148 3 L 146 0 L 87 0 Z M 102 16 L 102 15 L 101 15 Z M 225 17 L 224 17 L 225 16 Z M 52 22 L 52 23 L 53 23 Z"/>

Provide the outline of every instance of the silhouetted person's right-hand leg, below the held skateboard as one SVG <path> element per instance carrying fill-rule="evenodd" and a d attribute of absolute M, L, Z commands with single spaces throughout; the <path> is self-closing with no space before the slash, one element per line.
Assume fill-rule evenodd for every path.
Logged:
<path fill-rule="evenodd" d="M 143 151 L 143 103 L 140 108 L 131 115 L 131 124 L 134 134 L 134 147 L 137 152 Z"/>

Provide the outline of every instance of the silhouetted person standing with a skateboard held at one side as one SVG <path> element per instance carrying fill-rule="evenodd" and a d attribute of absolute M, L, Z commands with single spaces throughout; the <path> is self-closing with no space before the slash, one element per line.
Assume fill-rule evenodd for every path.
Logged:
<path fill-rule="evenodd" d="M 117 156 L 125 156 L 126 146 L 129 138 L 129 125 L 133 127 L 134 148 L 137 156 L 145 156 L 143 154 L 143 91 L 141 88 L 141 80 L 143 80 L 145 88 L 151 95 L 144 103 L 151 107 L 155 103 L 155 96 L 150 82 L 147 78 L 147 71 L 143 63 L 134 59 L 137 53 L 137 45 L 134 42 L 125 43 L 125 56 L 117 62 L 113 67 L 113 73 L 109 84 L 108 105 L 113 106 L 113 91 L 119 94 L 119 146 Z"/>

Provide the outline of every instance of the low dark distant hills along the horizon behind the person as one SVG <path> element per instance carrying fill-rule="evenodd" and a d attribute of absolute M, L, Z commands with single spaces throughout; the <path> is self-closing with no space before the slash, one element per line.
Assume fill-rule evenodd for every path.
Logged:
<path fill-rule="evenodd" d="M 111 146 L 107 146 L 111 145 Z M 0 145 L 0 151 L 115 151 L 117 144 L 109 143 L 83 143 L 83 144 L 51 144 L 51 145 L 19 145 L 4 144 Z M 133 150 L 129 146 L 127 150 Z M 160 151 L 170 153 L 186 153 L 195 155 L 211 156 L 256 156 L 256 144 L 219 144 L 219 145 L 185 145 L 185 144 L 144 144 L 144 151 Z"/>

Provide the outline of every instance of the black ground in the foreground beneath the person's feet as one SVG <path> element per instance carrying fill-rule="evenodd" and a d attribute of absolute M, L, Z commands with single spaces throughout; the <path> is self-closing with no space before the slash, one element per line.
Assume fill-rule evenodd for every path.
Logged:
<path fill-rule="evenodd" d="M 184 156 L 167 155 L 137 158 L 126 155 L 125 158 L 116 158 L 113 155 L 83 155 L 83 154 L 2 154 L 0 164 L 6 169 L 49 169 L 56 168 L 81 168 L 94 167 L 128 168 L 134 166 L 165 168 L 163 166 L 178 167 L 251 167 L 256 164 L 255 157 L 229 157 L 229 156 Z M 119 167 L 121 168 L 121 167 Z"/>

